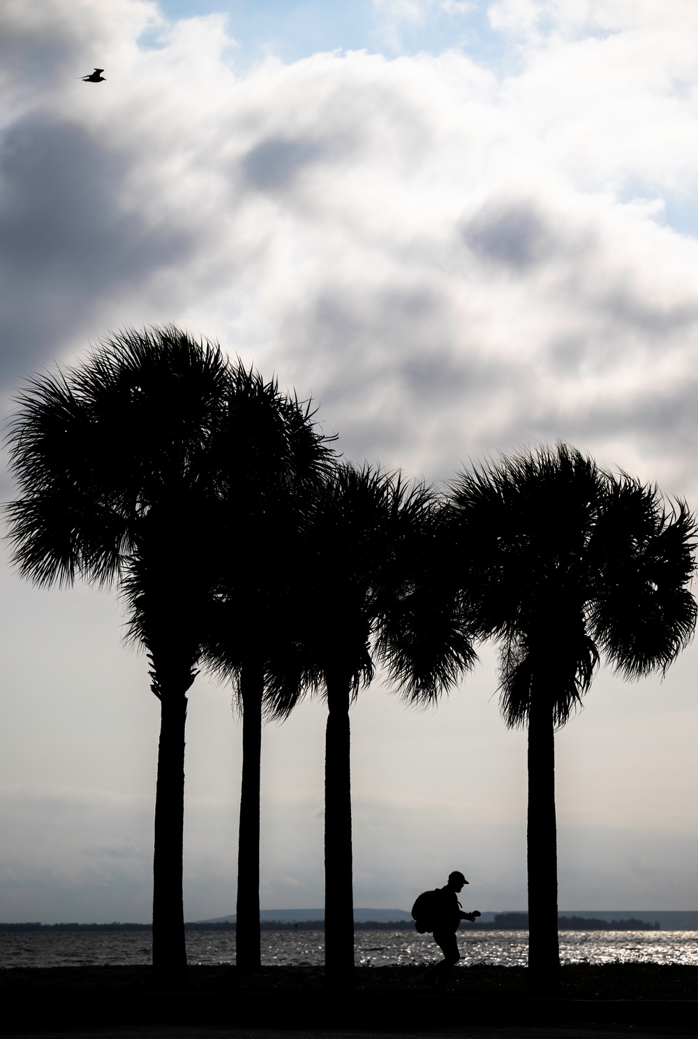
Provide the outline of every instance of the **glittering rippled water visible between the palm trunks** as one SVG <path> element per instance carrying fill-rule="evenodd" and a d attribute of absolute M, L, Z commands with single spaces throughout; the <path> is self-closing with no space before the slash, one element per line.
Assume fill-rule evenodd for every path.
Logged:
<path fill-rule="evenodd" d="M 461 963 L 524 966 L 526 931 L 459 931 Z M 356 962 L 372 966 L 429 963 L 440 952 L 429 934 L 415 931 L 357 931 Z M 698 931 L 562 931 L 563 963 L 698 964 Z M 234 931 L 187 931 L 189 963 L 235 963 Z M 56 967 L 151 962 L 149 931 L 86 931 L 0 934 L 0 966 Z M 311 964 L 324 962 L 322 931 L 263 931 L 262 962 Z"/>

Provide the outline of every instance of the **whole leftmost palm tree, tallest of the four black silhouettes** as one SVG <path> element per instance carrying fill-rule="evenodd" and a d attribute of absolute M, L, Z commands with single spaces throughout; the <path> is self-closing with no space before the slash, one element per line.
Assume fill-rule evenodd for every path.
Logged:
<path fill-rule="evenodd" d="M 155 808 L 156 984 L 186 970 L 182 904 L 184 731 L 219 549 L 215 529 L 231 373 L 220 349 L 174 326 L 125 330 L 76 368 L 34 376 L 10 427 L 21 497 L 14 560 L 37 585 L 116 583 L 144 646 L 161 729 Z"/>

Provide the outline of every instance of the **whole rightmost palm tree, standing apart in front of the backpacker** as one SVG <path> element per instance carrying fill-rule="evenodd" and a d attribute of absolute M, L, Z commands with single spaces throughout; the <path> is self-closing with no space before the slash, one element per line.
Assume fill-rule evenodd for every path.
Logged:
<path fill-rule="evenodd" d="M 625 678 L 665 671 L 690 640 L 694 516 L 655 486 L 599 469 L 563 444 L 461 474 L 452 552 L 464 610 L 502 647 L 501 697 L 529 734 L 529 966 L 559 978 L 555 737 L 601 654 Z"/>

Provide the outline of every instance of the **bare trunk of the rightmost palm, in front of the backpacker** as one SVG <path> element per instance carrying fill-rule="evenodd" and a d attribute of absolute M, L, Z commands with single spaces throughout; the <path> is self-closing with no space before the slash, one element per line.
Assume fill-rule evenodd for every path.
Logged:
<path fill-rule="evenodd" d="M 560 984 L 558 844 L 555 818 L 555 728 L 549 698 L 529 710 L 529 970 L 538 994 Z"/>

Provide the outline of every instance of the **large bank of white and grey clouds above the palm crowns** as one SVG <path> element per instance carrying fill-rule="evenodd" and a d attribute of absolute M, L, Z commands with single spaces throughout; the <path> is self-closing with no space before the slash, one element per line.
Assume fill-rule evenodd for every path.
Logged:
<path fill-rule="evenodd" d="M 567 436 L 693 488 L 698 243 L 663 222 L 696 172 L 691 25 L 664 19 L 648 70 L 651 5 L 572 26 L 499 4 L 503 32 L 547 26 L 500 79 L 455 52 L 236 76 L 218 17 L 41 7 L 2 16 L 25 91 L 0 141 L 7 387 L 110 325 L 179 320 L 313 392 L 350 455 L 448 477 Z M 107 83 L 68 75 L 88 53 Z"/>

